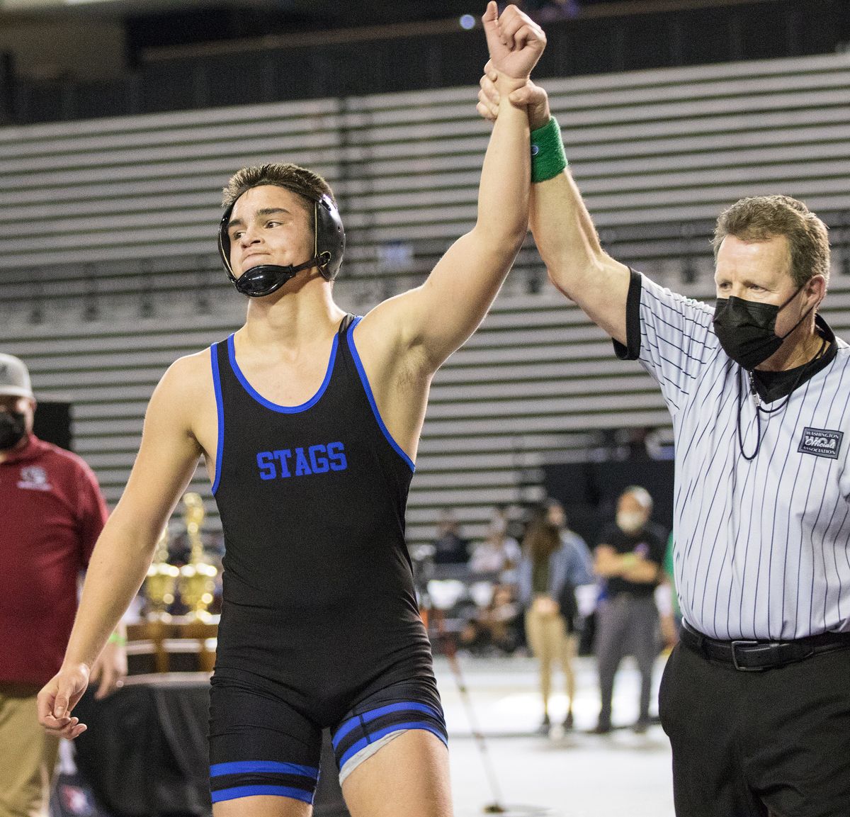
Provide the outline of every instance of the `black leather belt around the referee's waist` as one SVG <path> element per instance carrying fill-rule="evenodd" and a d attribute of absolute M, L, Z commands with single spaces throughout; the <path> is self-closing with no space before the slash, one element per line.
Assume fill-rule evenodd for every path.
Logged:
<path fill-rule="evenodd" d="M 794 641 L 718 641 L 697 633 L 682 622 L 682 643 L 711 661 L 731 664 L 741 672 L 782 667 L 811 655 L 850 649 L 850 633 L 822 633 Z"/>

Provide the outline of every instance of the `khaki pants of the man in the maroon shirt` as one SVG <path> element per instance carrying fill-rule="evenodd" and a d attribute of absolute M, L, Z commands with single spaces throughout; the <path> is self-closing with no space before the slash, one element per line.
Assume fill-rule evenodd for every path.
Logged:
<path fill-rule="evenodd" d="M 38 723 L 38 689 L 0 682 L 0 817 L 48 814 L 59 738 Z"/>

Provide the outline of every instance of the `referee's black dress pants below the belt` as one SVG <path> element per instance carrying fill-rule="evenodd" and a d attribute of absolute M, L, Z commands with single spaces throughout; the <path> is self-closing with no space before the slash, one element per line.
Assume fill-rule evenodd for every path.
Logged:
<path fill-rule="evenodd" d="M 850 650 L 740 672 L 678 644 L 659 712 L 677 817 L 850 815 Z"/>

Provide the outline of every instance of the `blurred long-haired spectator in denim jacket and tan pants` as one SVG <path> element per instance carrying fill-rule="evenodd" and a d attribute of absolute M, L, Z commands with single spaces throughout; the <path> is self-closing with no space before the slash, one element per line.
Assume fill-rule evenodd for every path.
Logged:
<path fill-rule="evenodd" d="M 541 732 L 551 726 L 549 695 L 552 662 L 564 672 L 567 714 L 564 729 L 573 726 L 575 673 L 575 587 L 593 582 L 591 557 L 581 536 L 568 530 L 564 508 L 547 502 L 531 520 L 519 565 L 519 600 L 525 607 L 525 634 L 540 665 L 543 698 Z M 566 616 L 564 616 L 566 613 Z"/>

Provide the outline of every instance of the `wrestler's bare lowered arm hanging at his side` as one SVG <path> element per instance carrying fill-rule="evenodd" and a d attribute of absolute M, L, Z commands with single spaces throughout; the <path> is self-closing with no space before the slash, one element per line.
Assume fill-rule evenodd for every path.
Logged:
<path fill-rule="evenodd" d="M 201 449 L 190 431 L 192 368 L 187 359 L 178 360 L 150 399 L 127 488 L 89 561 L 65 661 L 38 694 L 38 719 L 54 735 L 75 738 L 85 729 L 71 718 L 71 710 L 110 633 L 139 592 L 156 540 L 195 472 Z"/>

